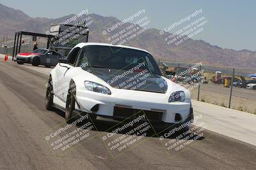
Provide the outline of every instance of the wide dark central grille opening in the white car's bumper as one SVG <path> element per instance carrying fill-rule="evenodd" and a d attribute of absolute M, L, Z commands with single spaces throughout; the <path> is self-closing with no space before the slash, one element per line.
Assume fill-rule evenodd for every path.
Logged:
<path fill-rule="evenodd" d="M 148 110 L 136 110 L 136 109 L 131 109 L 131 108 L 120 108 L 120 107 L 114 107 L 114 114 L 113 117 L 115 119 L 119 119 L 119 120 L 124 120 L 125 118 L 136 118 L 138 117 L 138 115 L 142 115 L 143 112 L 145 113 L 146 117 L 148 118 L 148 120 L 152 123 L 156 123 L 156 122 L 161 122 L 162 120 L 162 115 L 163 112 L 158 112 L 158 111 L 148 111 Z M 138 113 L 138 114 L 136 114 Z M 134 115 L 132 117 L 132 115 Z M 145 119 L 145 121 L 147 121 L 147 118 Z"/>

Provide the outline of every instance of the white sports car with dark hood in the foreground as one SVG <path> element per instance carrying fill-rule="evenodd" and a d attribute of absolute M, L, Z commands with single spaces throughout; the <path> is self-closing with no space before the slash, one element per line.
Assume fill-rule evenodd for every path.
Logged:
<path fill-rule="evenodd" d="M 143 110 L 152 124 L 193 121 L 188 90 L 164 78 L 152 55 L 131 46 L 79 43 L 52 69 L 46 108 L 93 118 L 131 118 Z"/>

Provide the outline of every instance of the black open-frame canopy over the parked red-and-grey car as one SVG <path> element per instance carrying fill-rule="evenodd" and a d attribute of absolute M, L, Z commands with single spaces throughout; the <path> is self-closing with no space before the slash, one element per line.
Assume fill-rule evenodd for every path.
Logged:
<path fill-rule="evenodd" d="M 35 32 L 26 32 L 26 31 L 15 32 L 15 38 L 14 38 L 14 43 L 13 43 L 12 60 L 14 59 L 14 56 L 16 56 L 17 53 L 20 52 L 20 46 L 21 46 L 21 42 L 22 42 L 22 35 L 48 38 L 47 48 L 49 48 L 49 45 L 50 45 L 50 38 L 53 37 L 52 35 L 40 34 L 40 33 L 35 33 Z"/>

